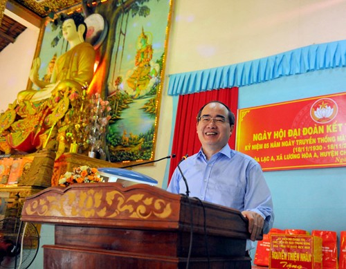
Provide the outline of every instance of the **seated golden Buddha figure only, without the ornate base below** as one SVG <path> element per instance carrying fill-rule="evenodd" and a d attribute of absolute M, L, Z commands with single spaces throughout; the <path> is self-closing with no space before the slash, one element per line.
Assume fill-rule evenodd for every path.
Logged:
<path fill-rule="evenodd" d="M 37 102 L 50 98 L 52 93 L 69 88 L 82 89 L 84 83 L 90 83 L 93 78 L 93 65 L 95 63 L 95 50 L 91 44 L 84 41 L 86 37 L 86 24 L 82 15 L 73 13 L 62 24 L 62 35 L 69 41 L 70 49 L 57 58 L 51 80 L 39 80 L 40 59 L 33 61 L 30 71 L 30 80 L 41 90 L 34 89 L 21 91 L 17 100 L 31 100 Z"/>

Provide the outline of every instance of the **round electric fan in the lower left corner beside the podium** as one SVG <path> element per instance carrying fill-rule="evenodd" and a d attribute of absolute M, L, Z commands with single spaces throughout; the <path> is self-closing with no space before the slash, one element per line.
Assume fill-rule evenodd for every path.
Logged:
<path fill-rule="evenodd" d="M 18 218 L 0 221 L 0 269 L 26 269 L 39 249 L 39 233 L 33 223 Z"/>

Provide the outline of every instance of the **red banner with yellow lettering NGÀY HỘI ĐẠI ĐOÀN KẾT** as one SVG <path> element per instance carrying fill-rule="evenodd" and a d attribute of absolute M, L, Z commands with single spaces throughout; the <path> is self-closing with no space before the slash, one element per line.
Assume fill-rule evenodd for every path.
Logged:
<path fill-rule="evenodd" d="M 239 109 L 236 150 L 264 171 L 346 166 L 346 93 Z"/>

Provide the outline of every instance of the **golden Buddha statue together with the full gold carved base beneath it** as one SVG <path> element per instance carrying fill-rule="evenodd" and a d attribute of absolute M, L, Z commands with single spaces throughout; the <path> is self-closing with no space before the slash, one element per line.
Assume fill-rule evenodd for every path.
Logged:
<path fill-rule="evenodd" d="M 84 41 L 86 25 L 80 13 L 64 18 L 62 28 L 69 49 L 54 61 L 51 80 L 39 77 L 41 61 L 34 59 L 30 80 L 40 90 L 20 91 L 17 100 L 0 115 L 0 151 L 5 154 L 37 152 L 52 140 L 58 145 L 57 156 L 69 151 L 71 143 L 80 144 L 80 152 L 89 147 L 84 140 L 86 132 L 84 136 L 70 134 L 82 125 L 79 114 L 91 99 L 86 89 L 93 79 L 95 50 Z M 84 129 L 77 131 L 83 133 Z"/>

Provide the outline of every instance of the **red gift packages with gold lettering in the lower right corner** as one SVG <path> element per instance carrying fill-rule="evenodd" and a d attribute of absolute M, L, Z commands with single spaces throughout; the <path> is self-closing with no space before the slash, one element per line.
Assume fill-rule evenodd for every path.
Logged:
<path fill-rule="evenodd" d="M 271 269 L 346 269 L 346 231 L 340 232 L 338 254 L 336 232 L 273 228 L 258 241 L 254 263 Z"/>

